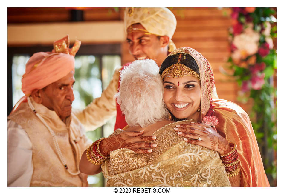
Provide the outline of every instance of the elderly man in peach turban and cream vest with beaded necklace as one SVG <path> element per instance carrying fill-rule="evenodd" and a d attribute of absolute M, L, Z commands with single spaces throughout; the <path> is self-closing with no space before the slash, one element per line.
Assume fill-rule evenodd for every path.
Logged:
<path fill-rule="evenodd" d="M 71 113 L 74 56 L 69 37 L 52 52 L 34 53 L 22 78 L 23 97 L 8 116 L 8 186 L 86 186 L 79 161 L 89 142 Z"/>

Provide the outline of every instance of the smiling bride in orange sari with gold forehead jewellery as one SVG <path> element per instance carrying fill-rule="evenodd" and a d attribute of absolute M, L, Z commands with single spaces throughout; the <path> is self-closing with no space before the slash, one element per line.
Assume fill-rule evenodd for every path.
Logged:
<path fill-rule="evenodd" d="M 218 151 L 232 186 L 269 186 L 248 115 L 233 102 L 212 100 L 214 77 L 204 56 L 189 47 L 178 48 L 159 73 L 172 119 L 198 121 L 177 124 L 178 135 Z"/>

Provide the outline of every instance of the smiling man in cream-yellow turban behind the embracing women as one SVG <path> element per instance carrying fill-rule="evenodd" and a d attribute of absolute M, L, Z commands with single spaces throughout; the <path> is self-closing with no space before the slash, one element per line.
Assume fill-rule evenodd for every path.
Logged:
<path fill-rule="evenodd" d="M 129 53 L 135 60 L 153 59 L 160 66 L 167 55 L 176 49 L 172 41 L 176 19 L 175 15 L 167 8 L 125 8 L 124 27 Z M 94 130 L 102 126 L 115 115 L 114 130 L 122 129 L 127 125 L 114 94 L 117 93 L 120 85 L 120 70 L 129 64 L 124 64 L 114 72 L 109 86 L 103 91 L 101 97 L 95 98 L 85 110 L 74 111 L 86 130 Z M 218 98 L 216 88 L 214 88 L 213 98 Z"/>

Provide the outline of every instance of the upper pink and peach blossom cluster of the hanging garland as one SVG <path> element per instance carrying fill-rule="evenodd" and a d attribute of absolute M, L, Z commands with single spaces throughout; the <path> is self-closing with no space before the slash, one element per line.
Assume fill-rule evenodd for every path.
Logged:
<path fill-rule="evenodd" d="M 233 8 L 229 61 L 233 76 L 241 84 L 240 94 L 262 89 L 264 79 L 276 68 L 276 63 L 269 64 L 270 61 L 265 60 L 268 55 L 268 58 L 276 57 L 272 41 L 276 37 L 276 26 L 271 29 L 271 23 L 276 22 L 273 13 L 271 8 Z"/>

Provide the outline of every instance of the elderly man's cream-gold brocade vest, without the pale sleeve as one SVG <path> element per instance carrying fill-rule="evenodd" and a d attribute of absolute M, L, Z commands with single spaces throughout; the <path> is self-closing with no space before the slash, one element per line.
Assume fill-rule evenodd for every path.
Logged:
<path fill-rule="evenodd" d="M 30 99 L 37 113 L 44 118 L 54 131 L 68 169 L 73 173 L 77 172 L 81 155 L 88 147 L 82 124 L 72 115 L 73 113 L 67 118 L 67 124 L 65 124 L 55 111 L 49 110 L 42 104 L 37 104 L 32 98 Z M 8 116 L 8 119 L 21 125 L 28 133 L 32 143 L 33 175 L 30 186 L 88 185 L 86 180 L 83 180 L 81 173 L 79 175 L 71 175 L 67 172 L 56 152 L 51 133 L 36 114 L 33 113 L 27 102 L 21 103 L 16 112 Z"/>

